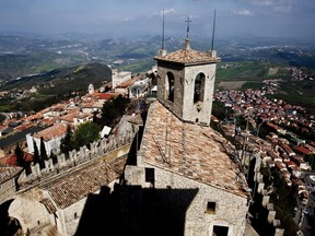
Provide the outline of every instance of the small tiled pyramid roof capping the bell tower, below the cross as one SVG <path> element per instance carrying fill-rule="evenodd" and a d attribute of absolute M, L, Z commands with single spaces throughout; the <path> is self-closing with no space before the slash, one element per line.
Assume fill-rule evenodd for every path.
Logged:
<path fill-rule="evenodd" d="M 200 64 L 218 62 L 220 58 L 215 54 L 201 52 L 190 48 L 189 39 L 186 39 L 186 47 L 174 52 L 166 54 L 165 56 L 154 57 L 155 60 L 175 62 L 180 64 Z"/>

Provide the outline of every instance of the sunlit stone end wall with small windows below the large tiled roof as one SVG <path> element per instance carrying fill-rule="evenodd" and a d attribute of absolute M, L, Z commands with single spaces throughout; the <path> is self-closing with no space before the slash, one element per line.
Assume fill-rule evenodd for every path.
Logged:
<path fill-rule="evenodd" d="M 229 236 L 244 235 L 247 198 L 159 168 L 155 168 L 154 186 L 156 189 L 198 189 L 186 212 L 185 235 L 212 235 L 214 225 L 229 227 Z M 182 198 L 178 196 L 178 201 Z M 207 213 L 208 202 L 215 202 L 214 214 Z"/>

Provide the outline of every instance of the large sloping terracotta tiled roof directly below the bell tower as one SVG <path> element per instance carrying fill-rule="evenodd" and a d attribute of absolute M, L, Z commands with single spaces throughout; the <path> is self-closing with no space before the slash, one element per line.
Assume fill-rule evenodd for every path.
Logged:
<path fill-rule="evenodd" d="M 140 148 L 147 164 L 245 196 L 232 153 L 231 143 L 210 127 L 185 123 L 160 102 L 150 106 Z"/>

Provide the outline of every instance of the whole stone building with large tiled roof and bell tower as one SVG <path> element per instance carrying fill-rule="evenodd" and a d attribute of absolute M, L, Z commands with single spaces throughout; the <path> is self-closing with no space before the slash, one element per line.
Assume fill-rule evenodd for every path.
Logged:
<path fill-rule="evenodd" d="M 149 233 L 145 225 L 151 217 L 156 220 L 148 223 L 154 235 L 166 227 L 173 235 L 244 235 L 247 182 L 234 146 L 210 128 L 220 58 L 213 50 L 191 49 L 187 38 L 184 49 L 164 50 L 154 59 L 158 101 L 149 108 L 136 162 L 125 169 L 127 188 L 142 189 L 132 196 L 133 204 L 144 209 L 143 202 L 155 201 L 149 213 L 136 214 L 135 221 L 143 226 L 137 231 Z M 130 205 L 121 208 L 132 210 Z M 162 215 L 164 224 L 159 223 Z M 130 229 L 135 231 L 131 225 Z"/>

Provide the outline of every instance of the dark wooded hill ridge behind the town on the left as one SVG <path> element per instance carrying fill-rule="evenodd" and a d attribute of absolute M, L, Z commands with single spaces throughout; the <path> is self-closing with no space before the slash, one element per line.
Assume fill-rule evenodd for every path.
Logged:
<path fill-rule="evenodd" d="M 0 86 L 9 95 L 0 99 L 0 111 L 38 111 L 75 94 L 86 94 L 89 84 L 100 87 L 112 81 L 112 70 L 106 64 L 88 63 L 79 67 L 55 69 L 47 73 L 22 76 Z M 37 93 L 14 98 L 10 94 L 36 87 Z M 73 92 L 77 92 L 73 94 Z"/>

